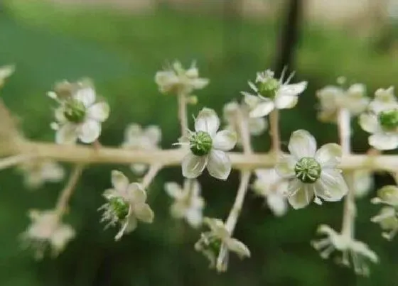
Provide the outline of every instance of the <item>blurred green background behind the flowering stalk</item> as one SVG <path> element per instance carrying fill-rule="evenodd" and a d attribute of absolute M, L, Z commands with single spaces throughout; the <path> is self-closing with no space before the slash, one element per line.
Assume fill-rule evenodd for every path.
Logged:
<path fill-rule="evenodd" d="M 111 106 L 101 141 L 119 145 L 124 127 L 136 122 L 158 124 L 163 148 L 178 138 L 176 98 L 158 93 L 154 75 L 166 60 L 189 65 L 196 60 L 208 88 L 198 92 L 199 104 L 222 111 L 241 99 L 247 79 L 266 68 L 289 64 L 296 80 L 308 89 L 296 109 L 282 111 L 281 136 L 306 128 L 318 143 L 335 142 L 332 124 L 316 121 L 317 89 L 344 75 L 348 82 L 379 87 L 397 84 L 398 1 L 393 0 L 3 0 L 0 2 L 0 65 L 14 63 L 2 97 L 19 116 L 28 138 L 53 141 L 49 123 L 52 101 L 45 93 L 60 79 L 91 77 Z M 353 150 L 365 152 L 367 136 L 354 123 Z M 255 150 L 269 148 L 267 134 L 254 138 Z M 70 166 L 65 165 L 70 168 Z M 97 208 L 110 186 L 110 170 L 134 175 L 126 166 L 92 166 L 85 170 L 66 217 L 77 237 L 58 258 L 33 260 L 21 250 L 18 235 L 26 211 L 53 207 L 62 184 L 29 192 L 14 170 L 1 172 L 1 286 L 146 286 L 146 285 L 398 285 L 397 239 L 387 243 L 379 226 L 370 222 L 378 207 L 370 197 L 358 202 L 357 238 L 380 255 L 369 278 L 322 260 L 311 248 L 318 224 L 340 229 L 343 204 L 328 203 L 275 218 L 264 200 L 249 192 L 236 237 L 252 251 L 218 275 L 193 250 L 200 231 L 171 219 L 165 180 L 182 181 L 179 168 L 163 170 L 151 185 L 149 202 L 154 224 L 141 224 L 122 241 L 116 230 L 103 231 Z M 376 185 L 392 183 L 375 174 Z M 207 201 L 205 214 L 225 218 L 237 189 L 237 173 L 219 182 L 200 177 Z"/>

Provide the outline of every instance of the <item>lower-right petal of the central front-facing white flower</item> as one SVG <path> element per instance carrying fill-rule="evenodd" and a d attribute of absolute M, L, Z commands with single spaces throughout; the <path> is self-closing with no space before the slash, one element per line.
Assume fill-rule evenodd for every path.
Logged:
<path fill-rule="evenodd" d="M 227 180 L 232 169 L 230 157 L 224 151 L 211 150 L 208 160 L 209 174 L 217 179 Z"/>

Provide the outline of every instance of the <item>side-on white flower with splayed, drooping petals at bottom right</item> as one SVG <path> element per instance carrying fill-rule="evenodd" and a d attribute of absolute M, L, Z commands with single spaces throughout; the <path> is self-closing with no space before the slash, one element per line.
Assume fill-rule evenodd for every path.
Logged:
<path fill-rule="evenodd" d="M 319 241 L 313 241 L 313 248 L 320 251 L 321 258 L 327 259 L 333 251 L 340 251 L 341 257 L 336 257 L 336 262 L 350 267 L 353 265 L 355 273 L 358 275 L 369 275 L 370 270 L 367 261 L 378 263 L 379 258 L 369 246 L 361 241 L 355 241 L 350 236 L 344 236 L 336 233 L 330 226 L 321 225 L 318 227 L 318 233 L 323 234 L 326 238 Z"/>

